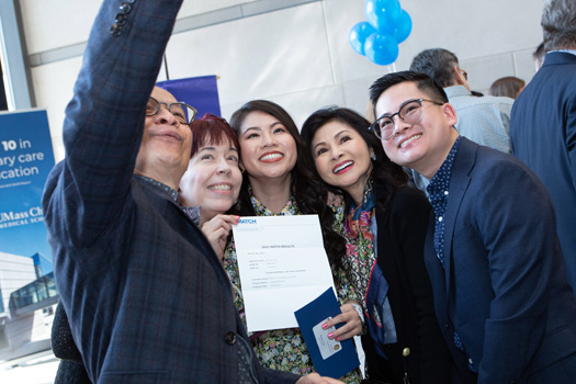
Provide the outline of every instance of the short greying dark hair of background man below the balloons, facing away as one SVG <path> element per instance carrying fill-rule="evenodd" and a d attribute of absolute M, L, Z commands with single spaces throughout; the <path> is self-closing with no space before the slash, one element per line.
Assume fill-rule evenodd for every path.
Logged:
<path fill-rule="evenodd" d="M 452 68 L 458 66 L 458 57 L 442 48 L 432 48 L 420 52 L 413 59 L 410 70 L 422 72 L 431 77 L 442 88 L 454 84 Z"/>

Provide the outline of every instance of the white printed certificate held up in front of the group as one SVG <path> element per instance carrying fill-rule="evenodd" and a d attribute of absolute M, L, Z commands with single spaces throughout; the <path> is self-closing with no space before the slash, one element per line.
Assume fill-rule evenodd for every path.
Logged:
<path fill-rule="evenodd" d="M 317 215 L 241 217 L 233 231 L 249 331 L 295 328 L 294 312 L 334 290 Z"/>

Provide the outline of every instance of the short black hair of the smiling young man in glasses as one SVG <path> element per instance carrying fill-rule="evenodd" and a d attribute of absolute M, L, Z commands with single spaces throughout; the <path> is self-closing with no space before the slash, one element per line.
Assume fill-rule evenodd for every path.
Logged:
<path fill-rule="evenodd" d="M 376 116 L 376 102 L 382 93 L 388 88 L 402 82 L 414 82 L 416 83 L 416 87 L 428 94 L 431 100 L 448 103 L 447 92 L 444 92 L 442 87 L 440 87 L 440 84 L 432 80 L 428 75 L 415 72 L 413 70 L 404 70 L 384 75 L 370 87 L 370 101 L 374 105 L 374 116 Z"/>

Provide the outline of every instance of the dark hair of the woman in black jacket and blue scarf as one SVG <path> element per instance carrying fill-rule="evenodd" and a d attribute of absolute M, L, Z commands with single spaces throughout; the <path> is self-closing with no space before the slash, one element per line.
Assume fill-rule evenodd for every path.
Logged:
<path fill-rule="evenodd" d="M 314 112 L 306 120 L 302 126 L 302 138 L 307 147 L 310 148 L 310 156 L 314 156 L 312 154 L 312 140 L 314 139 L 314 135 L 320 127 L 332 121 L 338 121 L 353 128 L 360 137 L 362 137 L 364 143 L 366 143 L 368 147 L 374 151 L 376 159 L 372 159 L 372 178 L 374 179 L 376 210 L 381 213 L 385 213 L 385 206 L 391 201 L 396 190 L 406 184 L 406 172 L 404 172 L 402 167 L 395 165 L 388 159 L 384 149 L 382 149 L 380 139 L 369 129 L 370 122 L 358 112 L 347 108 L 325 108 Z M 327 183 L 325 183 L 325 185 L 330 191 L 343 195 L 346 197 L 347 208 L 350 208 L 352 199 L 346 191 Z"/>

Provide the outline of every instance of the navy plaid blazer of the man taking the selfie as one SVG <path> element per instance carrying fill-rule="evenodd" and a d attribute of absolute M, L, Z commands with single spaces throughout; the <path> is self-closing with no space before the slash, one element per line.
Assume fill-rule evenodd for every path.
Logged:
<path fill-rule="evenodd" d="M 121 7 L 122 4 L 122 7 Z M 56 284 L 93 383 L 236 383 L 249 346 L 228 278 L 162 189 L 133 176 L 181 1 L 104 1 L 43 197 Z M 262 370 L 262 383 L 297 376 Z"/>

